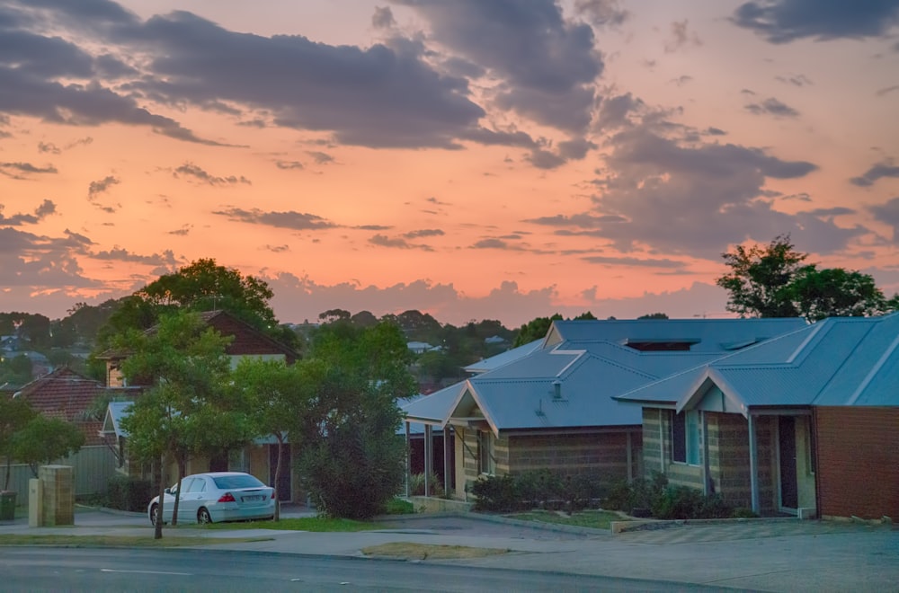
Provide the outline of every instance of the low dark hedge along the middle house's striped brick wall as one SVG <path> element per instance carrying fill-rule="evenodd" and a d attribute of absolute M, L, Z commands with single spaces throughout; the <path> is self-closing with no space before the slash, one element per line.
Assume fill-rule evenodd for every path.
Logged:
<path fill-rule="evenodd" d="M 481 476 L 472 486 L 478 510 L 585 509 L 600 500 L 600 478 L 535 470 L 512 475 Z"/>

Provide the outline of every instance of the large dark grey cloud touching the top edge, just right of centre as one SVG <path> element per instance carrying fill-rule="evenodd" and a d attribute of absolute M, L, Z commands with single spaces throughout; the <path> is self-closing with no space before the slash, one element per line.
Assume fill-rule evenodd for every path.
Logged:
<path fill-rule="evenodd" d="M 500 81 L 494 102 L 501 109 L 576 135 L 590 124 L 592 84 L 602 73 L 602 58 L 592 28 L 566 22 L 553 0 L 400 4 L 430 22 L 434 40 Z"/>

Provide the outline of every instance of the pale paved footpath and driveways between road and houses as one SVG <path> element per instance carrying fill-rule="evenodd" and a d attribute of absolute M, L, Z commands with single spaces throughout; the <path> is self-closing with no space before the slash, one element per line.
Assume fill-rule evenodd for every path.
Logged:
<path fill-rule="evenodd" d="M 302 507 L 282 517 L 314 515 Z M 74 527 L 0 522 L 0 535 L 153 536 L 143 513 L 79 510 Z M 165 537 L 215 538 L 210 551 L 292 553 L 364 558 L 363 548 L 389 543 L 459 545 L 507 553 L 424 560 L 517 571 L 554 571 L 664 580 L 762 591 L 899 592 L 899 529 L 795 518 L 689 523 L 612 535 L 479 514 L 388 518 L 384 528 L 356 533 L 271 529 L 167 529 Z M 238 541 L 260 538 L 261 541 Z M 2 540 L 2 538 L 0 538 Z M 376 559 L 377 560 L 377 559 Z M 375 561 L 369 561 L 375 562 Z"/>

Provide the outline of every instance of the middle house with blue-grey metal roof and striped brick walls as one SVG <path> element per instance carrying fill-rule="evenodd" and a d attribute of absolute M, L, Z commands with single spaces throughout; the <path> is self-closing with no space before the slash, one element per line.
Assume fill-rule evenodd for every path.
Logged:
<path fill-rule="evenodd" d="M 643 419 L 612 395 L 805 325 L 801 319 L 555 321 L 539 347 L 474 367 L 482 372 L 407 404 L 406 420 L 442 429 L 448 441 L 451 430 L 457 499 L 482 474 L 549 469 L 629 480 L 643 473 Z"/>

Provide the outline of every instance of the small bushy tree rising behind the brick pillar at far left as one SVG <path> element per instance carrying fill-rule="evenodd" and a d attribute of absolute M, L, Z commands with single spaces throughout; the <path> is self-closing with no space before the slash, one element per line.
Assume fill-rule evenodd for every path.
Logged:
<path fill-rule="evenodd" d="M 38 477 L 38 465 L 69 456 L 84 444 L 85 433 L 75 424 L 38 414 L 13 433 L 11 452 L 13 458 L 30 465 L 31 473 Z"/>

